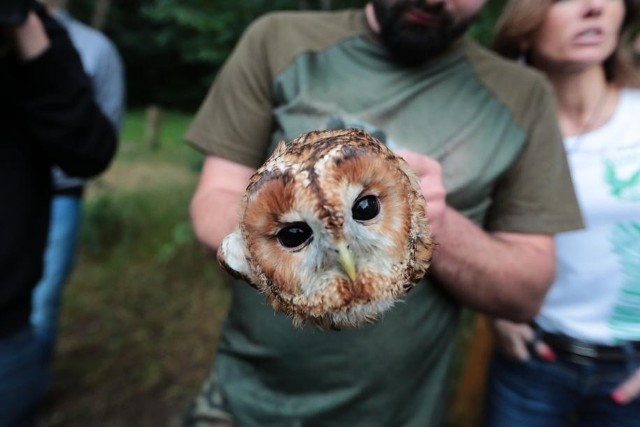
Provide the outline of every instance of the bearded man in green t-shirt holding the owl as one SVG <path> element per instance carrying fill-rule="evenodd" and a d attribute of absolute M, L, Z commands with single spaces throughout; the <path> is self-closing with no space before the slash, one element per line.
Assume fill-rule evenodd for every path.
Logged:
<path fill-rule="evenodd" d="M 216 250 L 237 227 L 277 141 L 359 127 L 418 173 L 438 245 L 403 304 L 359 329 L 296 329 L 235 281 L 186 425 L 438 425 L 461 305 L 538 311 L 552 235 L 582 222 L 544 79 L 464 37 L 484 3 L 272 13 L 243 35 L 186 136 L 206 154 L 191 202 L 202 243 Z"/>

